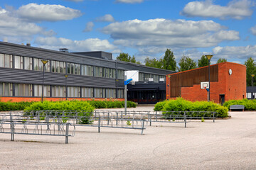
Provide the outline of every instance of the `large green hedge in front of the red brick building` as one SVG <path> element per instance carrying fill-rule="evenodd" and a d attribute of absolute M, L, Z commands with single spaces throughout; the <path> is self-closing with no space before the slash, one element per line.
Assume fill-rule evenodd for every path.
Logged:
<path fill-rule="evenodd" d="M 169 101 L 162 101 L 159 103 L 156 103 L 155 111 L 210 111 L 210 112 L 217 112 L 219 118 L 226 118 L 228 117 L 228 108 L 225 108 L 224 106 L 220 106 L 213 102 L 207 102 L 207 101 L 186 101 L 183 98 L 176 98 L 175 100 L 169 100 Z M 166 114 L 168 114 L 166 112 Z M 198 114 L 198 113 L 197 113 Z M 203 116 L 204 113 L 201 113 L 201 115 L 197 116 Z M 193 115 L 196 116 L 196 115 Z M 210 115 L 204 115 L 206 117 Z"/>

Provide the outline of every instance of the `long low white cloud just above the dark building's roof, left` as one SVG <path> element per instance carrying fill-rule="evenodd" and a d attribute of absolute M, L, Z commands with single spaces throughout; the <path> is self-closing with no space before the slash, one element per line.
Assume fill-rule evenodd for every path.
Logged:
<path fill-rule="evenodd" d="M 112 45 L 108 40 L 99 38 L 89 38 L 86 40 L 70 40 L 67 38 L 38 37 L 35 43 L 39 47 L 58 50 L 61 47 L 67 47 L 71 51 L 117 51 L 118 47 Z"/>

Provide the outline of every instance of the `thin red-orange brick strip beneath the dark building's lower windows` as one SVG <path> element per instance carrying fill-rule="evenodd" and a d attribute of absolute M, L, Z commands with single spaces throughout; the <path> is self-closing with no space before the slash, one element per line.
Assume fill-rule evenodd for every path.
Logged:
<path fill-rule="evenodd" d="M 93 98 L 95 101 L 103 101 L 103 100 L 117 100 L 124 101 L 124 98 Z M 92 98 L 68 98 L 68 101 L 78 100 L 78 101 L 91 101 Z M 7 102 L 20 102 L 20 101 L 41 101 L 41 98 L 38 97 L 1 97 L 0 101 Z M 43 98 L 43 101 L 65 101 L 65 98 Z"/>

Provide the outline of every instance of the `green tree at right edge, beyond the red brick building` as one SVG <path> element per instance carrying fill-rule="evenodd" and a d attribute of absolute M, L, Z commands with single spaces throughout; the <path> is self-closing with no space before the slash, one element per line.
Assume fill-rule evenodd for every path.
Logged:
<path fill-rule="evenodd" d="M 246 85 L 252 86 L 252 74 L 256 74 L 256 64 L 252 57 L 247 58 L 245 61 L 246 66 Z M 256 78 L 256 77 L 255 77 Z M 253 83 L 255 86 L 255 83 Z"/>

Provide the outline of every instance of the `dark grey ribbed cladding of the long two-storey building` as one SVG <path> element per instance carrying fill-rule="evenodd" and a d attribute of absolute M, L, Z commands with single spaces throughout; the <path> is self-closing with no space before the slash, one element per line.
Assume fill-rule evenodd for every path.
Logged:
<path fill-rule="evenodd" d="M 121 62 L 111 60 L 112 54 L 109 52 L 78 52 L 78 53 L 69 53 L 69 52 L 60 52 L 55 50 L 46 50 L 39 47 L 31 47 L 26 45 L 16 45 L 9 42 L 0 42 L 0 53 L 3 55 L 3 61 L 6 62 L 5 55 L 10 56 L 10 61 L 12 62 L 10 67 L 0 67 L 0 81 L 2 83 L 11 83 L 11 84 L 42 84 L 43 73 L 42 71 L 36 71 L 36 63 L 34 59 L 39 60 L 49 60 L 49 61 L 58 61 L 65 64 L 65 72 L 53 72 L 52 62 L 49 62 L 50 69 L 45 72 L 44 84 L 50 86 L 50 97 L 51 95 L 51 86 L 65 86 L 65 74 L 68 74 L 66 79 L 67 86 L 77 86 L 88 87 L 88 88 L 102 88 L 102 89 L 124 89 L 124 79 L 119 78 L 117 75 L 119 72 L 121 74 L 124 70 L 139 70 L 139 73 L 145 76 L 141 81 L 146 81 L 147 77 L 165 77 L 166 74 L 174 73 L 172 71 L 155 69 L 151 67 L 145 67 L 142 64 L 133 64 L 129 62 Z M 87 54 L 87 55 L 86 55 Z M 92 57 L 95 54 L 95 57 Z M 90 55 L 90 56 L 89 56 Z M 111 55 L 111 57 L 110 57 Z M 16 69 L 16 58 L 15 56 L 20 56 L 23 64 L 22 69 Z M 32 69 L 24 69 L 24 57 L 32 58 Z M 18 58 L 18 57 L 17 57 Z M 107 59 L 104 59 L 107 58 Z M 77 74 L 69 74 L 68 69 L 73 69 L 70 64 L 75 64 L 75 67 L 79 67 Z M 82 66 L 86 65 L 92 69 L 93 73 L 90 76 L 82 75 Z M 100 67 L 100 77 L 95 76 L 95 67 Z M 110 71 L 109 71 L 110 69 Z M 74 69 L 76 70 L 76 68 Z M 71 71 L 70 71 L 71 72 Z M 107 77 L 107 72 L 112 72 L 112 77 Z M 16 96 L 13 87 L 13 96 Z M 33 89 L 33 88 L 32 88 Z M 80 93 L 81 93 L 80 89 Z M 106 93 L 103 91 L 102 93 Z M 118 93 L 118 92 L 117 92 Z M 4 92 L 2 93 L 4 95 Z M 36 96 L 34 93 L 31 96 Z M 118 96 L 116 94 L 116 96 Z M 82 95 L 80 95 L 82 97 Z M 95 97 L 93 94 L 92 97 Z M 107 98 L 105 95 L 102 98 Z M 117 97 L 114 97 L 117 98 Z M 122 98 L 122 95 L 119 97 Z"/>

